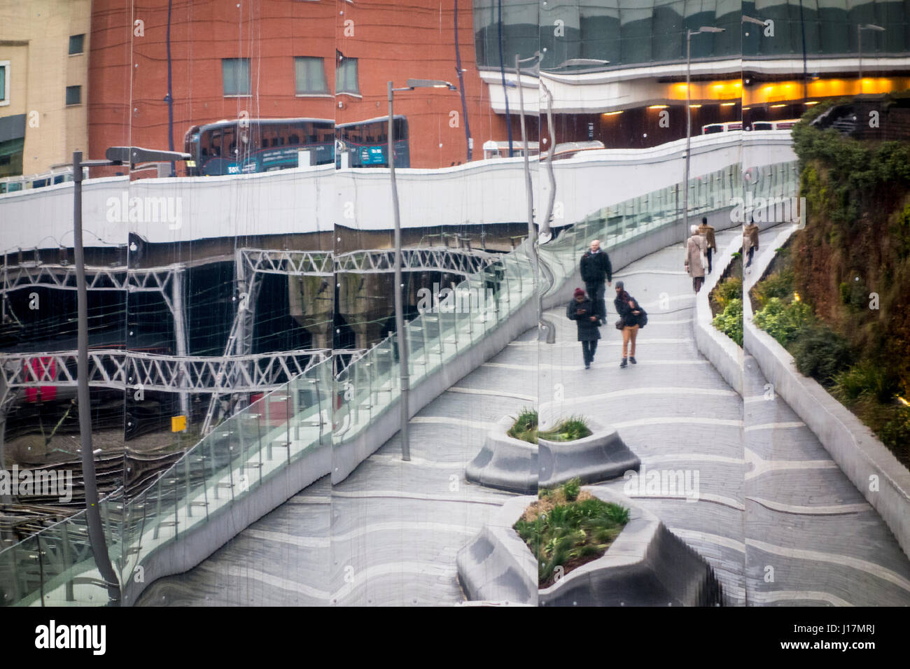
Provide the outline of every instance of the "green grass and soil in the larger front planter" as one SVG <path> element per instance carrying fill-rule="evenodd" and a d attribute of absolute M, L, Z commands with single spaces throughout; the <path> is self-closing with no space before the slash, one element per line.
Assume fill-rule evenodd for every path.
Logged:
<path fill-rule="evenodd" d="M 629 522 L 629 510 L 603 502 L 572 479 L 543 489 L 515 523 L 515 532 L 537 558 L 538 584 L 550 587 L 562 574 L 601 557 Z"/>

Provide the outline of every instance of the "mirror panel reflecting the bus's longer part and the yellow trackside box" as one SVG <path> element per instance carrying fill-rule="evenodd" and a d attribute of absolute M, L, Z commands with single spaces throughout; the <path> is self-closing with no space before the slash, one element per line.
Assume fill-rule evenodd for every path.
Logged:
<path fill-rule="evenodd" d="M 143 605 L 319 605 L 334 12 L 228 6 L 226 17 L 223 5 L 136 2 L 143 29 L 122 26 L 132 45 L 127 141 L 190 154 L 174 173 L 167 162 L 134 171 L 129 185 L 143 210 L 128 223 L 140 288 L 127 309 L 136 378 L 126 391 L 124 582 Z M 288 502 L 259 518 L 264 498 Z M 186 542 L 192 556 L 175 548 Z M 143 590 L 138 569 L 157 580 Z"/>

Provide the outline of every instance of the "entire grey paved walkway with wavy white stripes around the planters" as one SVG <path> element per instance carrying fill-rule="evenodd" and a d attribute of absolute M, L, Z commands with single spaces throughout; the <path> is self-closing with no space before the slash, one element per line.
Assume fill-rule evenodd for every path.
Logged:
<path fill-rule="evenodd" d="M 719 233 L 718 247 L 739 234 Z M 495 421 L 538 399 L 541 420 L 588 414 L 619 431 L 642 460 L 642 483 L 602 485 L 700 552 L 727 603 L 910 603 L 910 563 L 895 538 L 784 400 L 767 399 L 752 358 L 743 400 L 697 350 L 682 255 L 681 244 L 663 248 L 613 278 L 649 313 L 638 364 L 619 368 L 612 289 L 591 370 L 564 306 L 550 309 L 555 344 L 525 332 L 411 420 L 410 462 L 396 436 L 334 489 L 317 481 L 140 603 L 463 602 L 456 554 L 511 497 L 466 481 L 465 465 Z M 688 475 L 696 494 L 652 490 L 654 472 Z"/>

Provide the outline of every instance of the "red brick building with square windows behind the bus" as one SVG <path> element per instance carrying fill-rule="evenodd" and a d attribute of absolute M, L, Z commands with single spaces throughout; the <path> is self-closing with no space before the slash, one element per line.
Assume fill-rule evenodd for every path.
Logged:
<path fill-rule="evenodd" d="M 454 0 L 441 7 L 429 0 L 171 0 L 169 18 L 167 0 L 93 3 L 90 157 L 116 145 L 168 147 L 168 25 L 176 150 L 189 127 L 244 113 L 337 124 L 385 117 L 389 80 L 397 87 L 408 78 L 462 86 Z M 470 2 L 458 6 L 458 42 L 464 106 L 460 92 L 445 89 L 396 95 L 395 113 L 409 124 L 410 167 L 466 162 L 466 121 L 475 160 L 484 141 L 506 138 L 478 74 Z M 517 119 L 513 125 L 517 132 Z"/>

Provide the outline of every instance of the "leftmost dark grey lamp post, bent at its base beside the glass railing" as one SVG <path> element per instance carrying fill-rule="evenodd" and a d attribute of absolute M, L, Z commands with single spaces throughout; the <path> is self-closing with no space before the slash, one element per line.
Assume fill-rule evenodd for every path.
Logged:
<path fill-rule="evenodd" d="M 110 556 L 107 554 L 104 527 L 98 509 L 98 488 L 95 476 L 95 452 L 92 451 L 92 411 L 88 394 L 88 291 L 86 289 L 86 257 L 82 244 L 82 168 L 113 165 L 135 165 L 139 162 L 188 160 L 187 153 L 152 151 L 140 147 L 110 147 L 106 160 L 83 160 L 82 151 L 73 153 L 73 256 L 76 261 L 76 303 L 78 329 L 76 334 L 77 407 L 79 439 L 82 450 L 82 475 L 86 487 L 86 523 L 88 541 L 98 572 L 107 584 L 110 603 L 120 601 L 120 586 Z"/>

